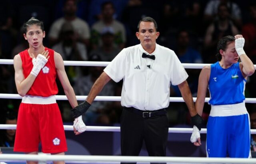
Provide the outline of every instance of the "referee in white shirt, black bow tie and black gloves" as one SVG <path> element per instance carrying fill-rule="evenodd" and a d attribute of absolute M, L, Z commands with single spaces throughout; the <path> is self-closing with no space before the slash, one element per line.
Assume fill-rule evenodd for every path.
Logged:
<path fill-rule="evenodd" d="M 110 79 L 115 82 L 123 79 L 122 156 L 138 156 L 143 140 L 149 156 L 166 156 L 169 126 L 166 108 L 171 83 L 178 85 L 192 124 L 201 129 L 202 118 L 196 113 L 186 81 L 188 74 L 174 51 L 156 43 L 159 34 L 153 18 L 142 18 L 136 32 L 140 44 L 124 48 L 96 80 L 86 101 L 72 109 L 74 118 L 79 117 Z"/>

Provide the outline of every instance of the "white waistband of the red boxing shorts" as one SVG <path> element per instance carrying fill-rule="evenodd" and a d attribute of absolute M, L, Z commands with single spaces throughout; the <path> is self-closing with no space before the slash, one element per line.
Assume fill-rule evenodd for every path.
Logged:
<path fill-rule="evenodd" d="M 26 95 L 22 97 L 22 103 L 26 104 L 54 104 L 56 103 L 55 95 L 49 97 Z"/>

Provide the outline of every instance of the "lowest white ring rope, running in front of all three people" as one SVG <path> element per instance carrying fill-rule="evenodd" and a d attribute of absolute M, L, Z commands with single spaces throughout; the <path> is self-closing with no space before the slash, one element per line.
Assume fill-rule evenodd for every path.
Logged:
<path fill-rule="evenodd" d="M 205 158 L 205 157 L 160 157 L 160 156 L 82 156 L 82 155 L 47 155 L 47 154 L 1 154 L 1 161 L 30 160 L 30 161 L 105 161 L 105 162 L 186 162 L 186 163 L 234 163 L 255 164 L 254 158 Z"/>

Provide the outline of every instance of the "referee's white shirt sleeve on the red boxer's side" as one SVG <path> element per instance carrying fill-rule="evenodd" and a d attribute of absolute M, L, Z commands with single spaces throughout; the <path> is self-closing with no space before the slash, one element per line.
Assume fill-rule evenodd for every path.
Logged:
<path fill-rule="evenodd" d="M 123 49 L 104 69 L 104 72 L 117 83 L 125 76 L 126 64 L 126 49 Z"/>

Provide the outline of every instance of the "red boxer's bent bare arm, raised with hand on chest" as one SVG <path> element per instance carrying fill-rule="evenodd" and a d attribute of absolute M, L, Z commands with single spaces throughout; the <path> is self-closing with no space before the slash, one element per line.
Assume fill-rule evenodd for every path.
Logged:
<path fill-rule="evenodd" d="M 34 83 L 36 77 L 29 74 L 28 77 L 25 79 L 23 75 L 22 60 L 20 54 L 14 56 L 13 62 L 15 70 L 15 84 L 18 94 L 20 96 L 25 96 L 32 84 Z"/>

